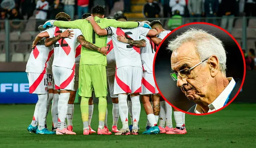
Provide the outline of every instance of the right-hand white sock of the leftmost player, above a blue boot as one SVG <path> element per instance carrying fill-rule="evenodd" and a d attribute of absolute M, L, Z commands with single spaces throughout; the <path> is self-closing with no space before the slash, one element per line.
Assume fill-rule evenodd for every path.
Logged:
<path fill-rule="evenodd" d="M 45 128 L 48 94 L 38 95 L 38 130 Z"/>

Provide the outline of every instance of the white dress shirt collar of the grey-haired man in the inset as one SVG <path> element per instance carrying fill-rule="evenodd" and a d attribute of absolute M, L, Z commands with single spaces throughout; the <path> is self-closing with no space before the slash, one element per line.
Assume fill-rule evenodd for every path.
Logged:
<path fill-rule="evenodd" d="M 227 79 L 229 81 L 228 86 L 220 93 L 220 95 L 211 104 L 208 105 L 209 107 L 208 112 L 216 111 L 224 107 L 224 105 L 226 105 L 226 101 L 228 100 L 230 93 L 232 92 L 232 90 L 236 85 L 236 82 L 232 77 L 228 77 Z M 196 108 L 197 108 L 197 105 L 196 105 Z M 203 113 L 202 111 L 196 110 L 196 108 L 194 110 L 196 114 Z"/>

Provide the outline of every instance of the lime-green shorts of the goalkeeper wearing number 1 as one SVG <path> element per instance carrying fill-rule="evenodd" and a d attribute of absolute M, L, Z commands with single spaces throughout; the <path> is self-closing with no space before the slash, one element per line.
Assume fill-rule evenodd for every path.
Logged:
<path fill-rule="evenodd" d="M 79 65 L 78 95 L 92 97 L 94 89 L 95 97 L 107 96 L 107 76 L 104 65 Z"/>

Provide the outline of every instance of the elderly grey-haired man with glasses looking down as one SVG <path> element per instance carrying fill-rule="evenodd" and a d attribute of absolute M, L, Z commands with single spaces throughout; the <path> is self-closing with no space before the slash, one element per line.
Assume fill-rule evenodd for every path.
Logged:
<path fill-rule="evenodd" d="M 172 79 L 186 97 L 196 103 L 188 112 L 216 111 L 232 98 L 236 82 L 226 77 L 226 51 L 215 36 L 189 29 L 168 44 L 172 51 Z"/>

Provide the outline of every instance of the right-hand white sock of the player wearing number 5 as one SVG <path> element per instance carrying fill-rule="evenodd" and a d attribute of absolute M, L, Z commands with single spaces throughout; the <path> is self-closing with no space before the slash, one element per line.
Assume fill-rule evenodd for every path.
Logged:
<path fill-rule="evenodd" d="M 140 120 L 140 95 L 131 97 L 132 101 L 132 119 L 133 119 L 133 126 L 132 129 L 138 128 L 138 123 Z"/>

